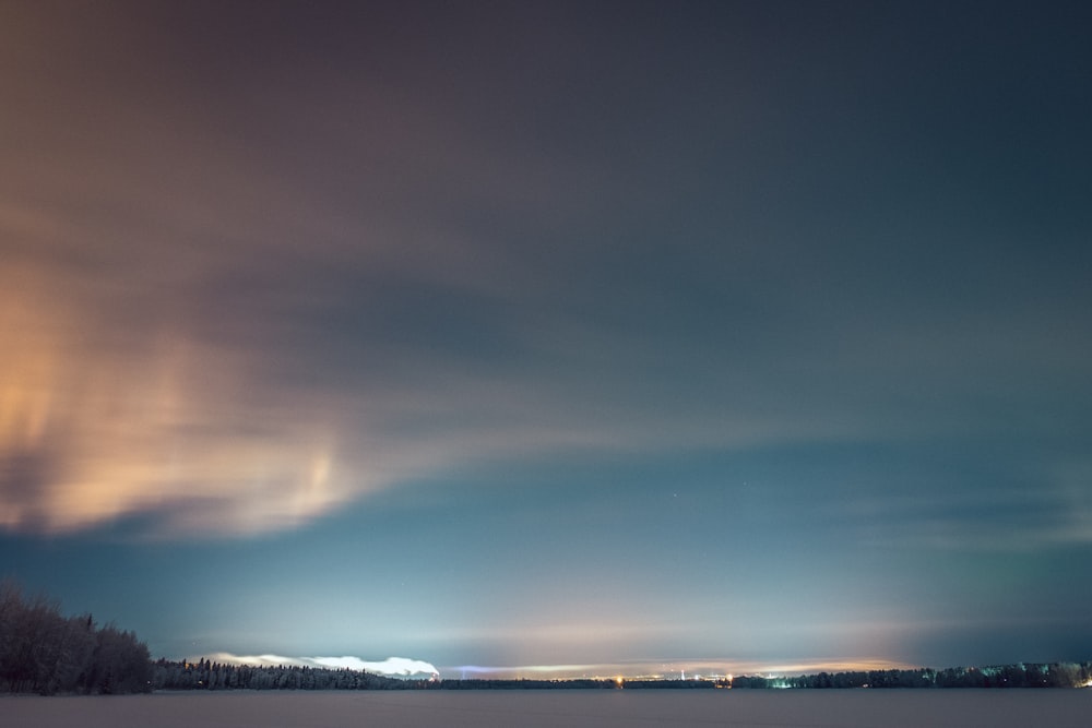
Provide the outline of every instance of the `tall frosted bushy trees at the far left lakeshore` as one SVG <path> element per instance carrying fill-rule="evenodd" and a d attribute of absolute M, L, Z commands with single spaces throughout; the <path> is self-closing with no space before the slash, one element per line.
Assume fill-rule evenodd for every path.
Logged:
<path fill-rule="evenodd" d="M 63 617 L 55 601 L 0 583 L 0 687 L 9 692 L 138 693 L 152 690 L 147 646 L 91 614 Z"/>

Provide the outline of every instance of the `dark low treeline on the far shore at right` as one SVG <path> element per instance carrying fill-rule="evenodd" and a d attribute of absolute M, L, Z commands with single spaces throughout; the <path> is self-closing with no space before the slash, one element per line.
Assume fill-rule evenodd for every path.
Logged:
<path fill-rule="evenodd" d="M 740 676 L 733 688 L 1078 688 L 1092 679 L 1092 663 L 1017 663 L 942 670 L 819 672 L 795 678 Z"/>

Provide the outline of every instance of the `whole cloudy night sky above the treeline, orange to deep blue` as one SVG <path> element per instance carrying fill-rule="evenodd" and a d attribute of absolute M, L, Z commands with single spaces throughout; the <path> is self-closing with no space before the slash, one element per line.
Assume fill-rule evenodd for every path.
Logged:
<path fill-rule="evenodd" d="M 171 658 L 1092 658 L 1090 27 L 0 0 L 0 576 Z"/>

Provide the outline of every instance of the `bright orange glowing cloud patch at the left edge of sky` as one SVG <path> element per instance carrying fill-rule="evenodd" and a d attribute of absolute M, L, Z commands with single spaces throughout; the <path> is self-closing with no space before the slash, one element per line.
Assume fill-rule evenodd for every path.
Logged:
<path fill-rule="evenodd" d="M 345 485 L 320 404 L 271 395 L 246 350 L 111 331 L 33 266 L 0 278 L 0 525 L 259 533 L 375 485 Z"/>

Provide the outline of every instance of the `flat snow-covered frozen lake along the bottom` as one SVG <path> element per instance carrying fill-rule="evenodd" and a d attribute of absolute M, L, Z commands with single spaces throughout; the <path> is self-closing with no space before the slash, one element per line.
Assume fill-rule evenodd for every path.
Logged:
<path fill-rule="evenodd" d="M 549 690 L 0 697 L 20 728 L 1088 728 L 1092 690 Z"/>

